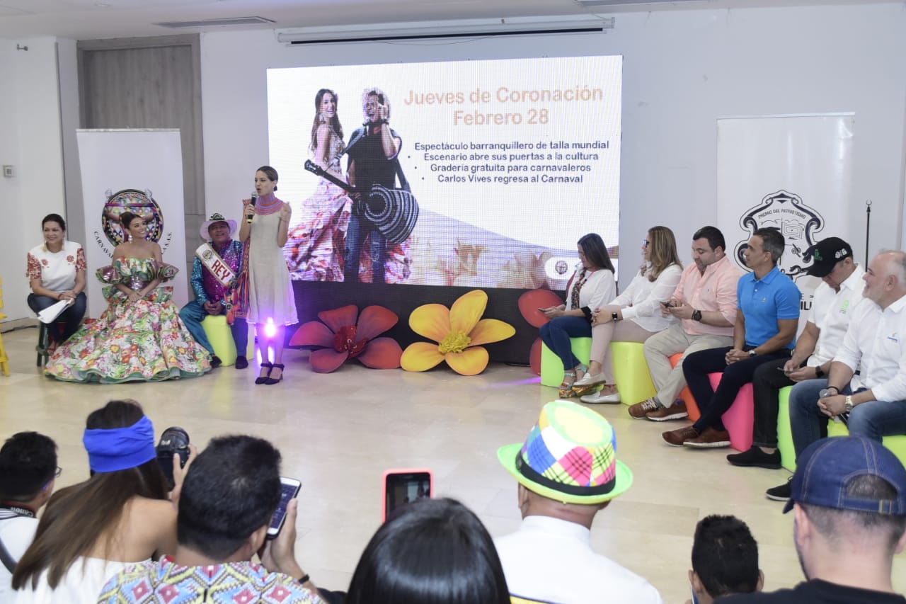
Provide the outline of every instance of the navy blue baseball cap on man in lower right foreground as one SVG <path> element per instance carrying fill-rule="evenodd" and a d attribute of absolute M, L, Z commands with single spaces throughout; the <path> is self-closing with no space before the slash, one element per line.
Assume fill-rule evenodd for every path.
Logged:
<path fill-rule="evenodd" d="M 847 497 L 846 488 L 859 476 L 877 476 L 890 482 L 896 496 Z M 864 436 L 834 436 L 808 445 L 796 461 L 791 489 L 784 513 L 792 510 L 794 503 L 807 503 L 834 510 L 906 516 L 906 468 L 889 449 Z"/>

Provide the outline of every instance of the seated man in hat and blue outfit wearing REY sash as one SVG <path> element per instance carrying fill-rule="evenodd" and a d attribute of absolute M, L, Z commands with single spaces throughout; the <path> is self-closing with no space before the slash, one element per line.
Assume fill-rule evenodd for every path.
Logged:
<path fill-rule="evenodd" d="M 208 315 L 226 314 L 233 341 L 236 342 L 236 369 L 245 369 L 248 366 L 248 325 L 246 319 L 232 317 L 229 312 L 236 277 L 242 271 L 243 245 L 233 239 L 234 234 L 236 220 L 227 220 L 220 214 L 212 214 L 211 219 L 201 225 L 201 239 L 205 242 L 195 250 L 195 261 L 192 263 L 195 299 L 182 307 L 179 318 L 195 341 L 211 353 L 211 366 L 217 367 L 222 361 L 214 354 L 214 346 L 207 339 L 201 322 Z"/>

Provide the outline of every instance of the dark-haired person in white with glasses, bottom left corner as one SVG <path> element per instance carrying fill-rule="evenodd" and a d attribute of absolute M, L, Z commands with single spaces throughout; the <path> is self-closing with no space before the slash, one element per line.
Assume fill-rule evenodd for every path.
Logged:
<path fill-rule="evenodd" d="M 9 567 L 34 541 L 35 515 L 60 475 L 56 463 L 56 443 L 36 432 L 13 434 L 0 448 L 0 602 L 10 597 Z"/>

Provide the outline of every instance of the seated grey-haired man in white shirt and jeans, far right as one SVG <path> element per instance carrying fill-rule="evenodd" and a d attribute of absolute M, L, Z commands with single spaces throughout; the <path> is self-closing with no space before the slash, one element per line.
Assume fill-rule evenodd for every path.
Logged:
<path fill-rule="evenodd" d="M 797 458 L 827 434 L 830 418 L 845 421 L 850 434 L 877 442 L 906 434 L 906 252 L 872 258 L 863 281 L 865 299 L 853 310 L 829 376 L 800 382 L 790 394 Z M 786 483 L 767 495 L 786 501 L 790 489 Z"/>

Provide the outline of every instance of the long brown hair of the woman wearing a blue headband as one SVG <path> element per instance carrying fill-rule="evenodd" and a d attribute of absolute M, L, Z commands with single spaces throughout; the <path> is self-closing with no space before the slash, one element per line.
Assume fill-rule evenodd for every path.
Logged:
<path fill-rule="evenodd" d="M 138 422 L 144 412 L 135 401 L 111 401 L 92 412 L 89 429 L 124 428 Z M 119 472 L 93 473 L 85 482 L 53 493 L 41 516 L 32 545 L 15 566 L 13 589 L 34 589 L 44 570 L 56 588 L 80 556 L 87 555 L 105 532 L 105 551 L 120 535 L 116 528 L 126 504 L 133 497 L 167 499 L 167 479 L 157 459 Z"/>

